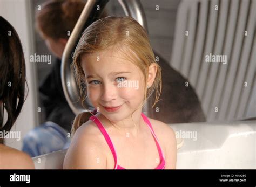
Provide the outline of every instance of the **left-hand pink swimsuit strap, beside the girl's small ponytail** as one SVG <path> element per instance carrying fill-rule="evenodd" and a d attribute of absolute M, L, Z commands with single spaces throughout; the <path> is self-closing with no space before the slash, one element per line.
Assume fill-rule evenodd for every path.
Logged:
<path fill-rule="evenodd" d="M 114 146 L 113 146 L 113 143 L 109 137 L 109 134 L 107 134 L 107 131 L 105 130 L 102 122 L 99 121 L 98 117 L 96 117 L 95 115 L 94 116 L 91 116 L 89 118 L 90 120 L 92 120 L 93 122 L 95 122 L 95 124 L 98 126 L 99 130 L 102 132 L 103 136 L 105 137 L 105 140 L 107 142 L 107 144 L 109 145 L 110 147 L 110 150 L 113 154 L 113 157 L 114 157 L 114 169 L 116 169 L 117 167 L 117 155 L 116 155 L 116 150 L 114 150 Z"/>

